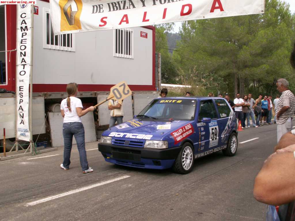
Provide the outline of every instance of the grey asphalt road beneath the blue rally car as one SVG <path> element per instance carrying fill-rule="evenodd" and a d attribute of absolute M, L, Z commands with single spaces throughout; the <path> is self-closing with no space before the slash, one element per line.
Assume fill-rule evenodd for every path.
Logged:
<path fill-rule="evenodd" d="M 107 163 L 97 142 L 86 145 L 89 174 L 76 145 L 67 171 L 59 167 L 63 148 L 0 161 L 0 220 L 265 220 L 253 182 L 276 144 L 276 125 L 246 128 L 238 142 L 253 138 L 233 157 L 219 151 L 196 160 L 187 175 Z"/>

